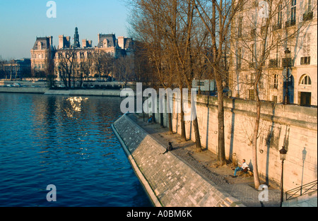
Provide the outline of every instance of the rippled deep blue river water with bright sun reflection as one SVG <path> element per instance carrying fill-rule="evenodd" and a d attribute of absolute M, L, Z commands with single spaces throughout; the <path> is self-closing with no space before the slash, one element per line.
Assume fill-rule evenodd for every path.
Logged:
<path fill-rule="evenodd" d="M 152 206 L 111 129 L 120 102 L 0 93 L 0 206 Z"/>

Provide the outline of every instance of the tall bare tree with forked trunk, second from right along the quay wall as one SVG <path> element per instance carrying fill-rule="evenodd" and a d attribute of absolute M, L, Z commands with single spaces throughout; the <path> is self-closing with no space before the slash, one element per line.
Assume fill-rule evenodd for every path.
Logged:
<path fill-rule="evenodd" d="M 224 141 L 224 104 L 223 104 L 223 87 L 228 75 L 227 68 L 224 66 L 225 48 L 227 47 L 226 38 L 230 32 L 232 19 L 237 13 L 243 0 L 233 1 L 192 1 L 196 11 L 201 18 L 202 23 L 209 33 L 211 40 L 211 52 L 206 53 L 207 64 L 213 70 L 213 76 L 216 80 L 218 90 L 218 161 L 224 165 L 225 161 L 225 141 Z"/>

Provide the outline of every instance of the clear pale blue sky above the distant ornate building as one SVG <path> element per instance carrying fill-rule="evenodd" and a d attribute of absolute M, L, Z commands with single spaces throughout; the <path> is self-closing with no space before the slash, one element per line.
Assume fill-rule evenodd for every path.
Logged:
<path fill-rule="evenodd" d="M 47 18 L 48 0 L 0 0 L 0 56 L 2 59 L 30 58 L 36 37 L 59 35 L 73 38 L 78 27 L 80 42 L 98 33 L 127 36 L 129 8 L 126 0 L 55 0 L 57 18 Z M 73 43 L 73 40 L 71 41 Z"/>

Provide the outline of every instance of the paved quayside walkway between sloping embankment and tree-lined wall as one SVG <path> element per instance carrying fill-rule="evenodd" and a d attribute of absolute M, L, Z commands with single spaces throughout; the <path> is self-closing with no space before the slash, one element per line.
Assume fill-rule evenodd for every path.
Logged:
<path fill-rule="evenodd" d="M 248 207 L 260 207 L 259 195 L 263 196 L 264 191 L 254 189 L 253 177 L 232 177 L 233 165 L 224 165 L 218 167 L 216 164 L 217 157 L 209 150 L 201 152 L 195 151 L 193 141 L 180 141 L 179 134 L 170 134 L 167 128 L 162 128 L 160 124 L 148 124 L 143 121 L 143 117 L 136 114 L 128 115 L 133 121 L 147 131 L 163 146 L 167 146 L 172 141 L 173 153 L 180 160 L 186 162 L 190 167 L 195 169 L 201 176 L 213 181 L 220 187 L 220 191 L 228 193 L 230 196 L 237 198 Z M 146 119 L 145 119 L 146 121 Z M 265 182 L 261 181 L 261 184 Z M 265 207 L 278 207 L 281 201 L 281 191 L 274 186 L 268 186 L 268 201 L 264 201 Z"/>

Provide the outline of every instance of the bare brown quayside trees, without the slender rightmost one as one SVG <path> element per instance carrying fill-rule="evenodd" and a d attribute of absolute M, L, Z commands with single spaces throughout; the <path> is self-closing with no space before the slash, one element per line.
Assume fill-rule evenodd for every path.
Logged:
<path fill-rule="evenodd" d="M 218 160 L 225 164 L 223 89 L 230 23 L 242 1 L 134 0 L 131 27 L 143 42 L 163 88 L 192 88 L 194 78 L 215 79 L 218 88 Z M 181 100 L 183 95 L 181 94 Z M 183 101 L 181 101 L 183 103 Z M 196 112 L 192 106 L 192 112 Z M 181 105 L 181 138 L 186 139 Z M 169 120 L 170 116 L 169 116 Z M 198 120 L 193 121 L 201 149 Z M 171 129 L 170 129 L 171 130 Z"/>

